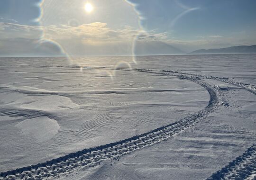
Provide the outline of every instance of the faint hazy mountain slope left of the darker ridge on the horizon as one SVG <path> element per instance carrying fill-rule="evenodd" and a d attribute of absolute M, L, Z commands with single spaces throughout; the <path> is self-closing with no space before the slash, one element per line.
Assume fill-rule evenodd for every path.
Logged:
<path fill-rule="evenodd" d="M 136 55 L 184 54 L 182 50 L 161 41 L 136 41 L 134 53 Z"/>

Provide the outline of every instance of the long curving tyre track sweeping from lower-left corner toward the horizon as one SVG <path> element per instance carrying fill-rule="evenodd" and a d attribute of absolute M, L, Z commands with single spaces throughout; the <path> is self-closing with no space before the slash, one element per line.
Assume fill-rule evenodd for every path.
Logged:
<path fill-rule="evenodd" d="M 159 75 L 173 75 L 150 70 L 137 71 L 155 73 Z M 118 158 L 120 155 L 124 155 L 148 145 L 158 143 L 168 137 L 182 132 L 183 130 L 197 123 L 203 117 L 207 116 L 209 113 L 213 112 L 216 108 L 218 108 L 219 104 L 221 104 L 221 95 L 218 88 L 201 81 L 197 77 L 189 77 L 185 75 L 176 76 L 178 76 L 180 79 L 193 81 L 205 88 L 210 94 L 208 106 L 198 112 L 192 113 L 188 117 L 169 125 L 161 126 L 144 134 L 136 135 L 118 142 L 105 144 L 90 149 L 84 149 L 76 153 L 70 153 L 47 162 L 18 168 L 12 171 L 1 172 L 0 178 L 4 180 L 46 179 L 56 177 L 61 173 L 72 171 L 77 167 L 93 166 L 104 159 Z"/>

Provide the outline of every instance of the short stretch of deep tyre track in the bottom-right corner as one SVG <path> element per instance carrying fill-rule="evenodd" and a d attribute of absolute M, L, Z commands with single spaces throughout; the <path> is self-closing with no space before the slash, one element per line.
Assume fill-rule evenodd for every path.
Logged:
<path fill-rule="evenodd" d="M 256 144 L 207 180 L 256 180 Z"/>

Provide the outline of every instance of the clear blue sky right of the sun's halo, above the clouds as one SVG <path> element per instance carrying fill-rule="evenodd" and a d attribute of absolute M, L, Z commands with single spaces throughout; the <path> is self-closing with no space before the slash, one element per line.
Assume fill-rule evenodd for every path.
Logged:
<path fill-rule="evenodd" d="M 147 29 L 176 31 L 182 38 L 255 30 L 255 0 L 134 0 L 137 10 L 146 19 L 142 25 Z M 191 10 L 172 26 L 172 21 L 183 13 L 185 7 Z"/>

